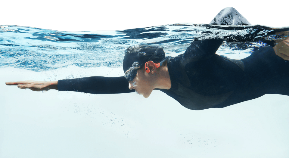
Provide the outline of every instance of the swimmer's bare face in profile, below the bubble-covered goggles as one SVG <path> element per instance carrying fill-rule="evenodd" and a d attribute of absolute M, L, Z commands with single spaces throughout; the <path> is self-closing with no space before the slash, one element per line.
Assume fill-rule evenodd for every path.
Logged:
<path fill-rule="evenodd" d="M 135 78 L 132 81 L 129 81 L 129 89 L 135 89 L 138 94 L 142 94 L 144 98 L 148 98 L 154 90 L 153 76 L 151 73 L 146 73 L 144 67 L 137 72 Z M 133 84 L 134 82 L 135 84 Z"/>

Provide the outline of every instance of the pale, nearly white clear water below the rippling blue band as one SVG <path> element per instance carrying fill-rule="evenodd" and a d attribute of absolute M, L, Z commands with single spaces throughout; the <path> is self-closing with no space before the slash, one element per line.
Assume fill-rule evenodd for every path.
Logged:
<path fill-rule="evenodd" d="M 123 75 L 121 68 L 112 69 L 1 68 L 0 157 L 289 157 L 288 96 L 266 94 L 195 111 L 161 91 L 143 98 L 135 93 L 43 93 L 5 85 Z"/>

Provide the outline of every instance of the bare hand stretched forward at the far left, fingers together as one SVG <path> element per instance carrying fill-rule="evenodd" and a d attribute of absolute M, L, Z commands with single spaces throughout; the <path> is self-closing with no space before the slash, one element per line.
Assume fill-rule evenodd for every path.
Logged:
<path fill-rule="evenodd" d="M 17 85 L 20 89 L 29 88 L 33 91 L 48 91 L 49 89 L 57 89 L 57 81 L 42 82 L 42 81 L 19 81 L 19 82 L 5 82 L 6 85 Z"/>

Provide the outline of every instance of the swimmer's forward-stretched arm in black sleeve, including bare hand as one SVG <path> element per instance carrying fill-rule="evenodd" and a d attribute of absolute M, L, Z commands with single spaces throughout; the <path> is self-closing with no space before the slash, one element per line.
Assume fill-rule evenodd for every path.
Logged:
<path fill-rule="evenodd" d="M 128 88 L 128 81 L 123 76 L 93 76 L 78 79 L 64 79 L 52 82 L 26 80 L 20 82 L 6 82 L 5 84 L 17 85 L 18 88 L 29 88 L 33 91 L 47 91 L 50 89 L 58 89 L 58 91 L 79 91 L 92 94 L 117 94 L 135 91 Z"/>

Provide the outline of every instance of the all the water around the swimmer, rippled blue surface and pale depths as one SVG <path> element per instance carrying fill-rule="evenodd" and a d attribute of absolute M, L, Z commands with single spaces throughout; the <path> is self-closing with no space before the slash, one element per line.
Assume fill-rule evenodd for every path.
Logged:
<path fill-rule="evenodd" d="M 0 26 L 0 157 L 288 157 L 288 96 L 194 111 L 160 91 L 146 99 L 4 84 L 123 76 L 129 46 L 159 46 L 175 57 L 193 39 L 209 38 L 226 39 L 216 54 L 242 59 L 288 39 L 289 27 L 176 23 L 64 32 Z"/>

